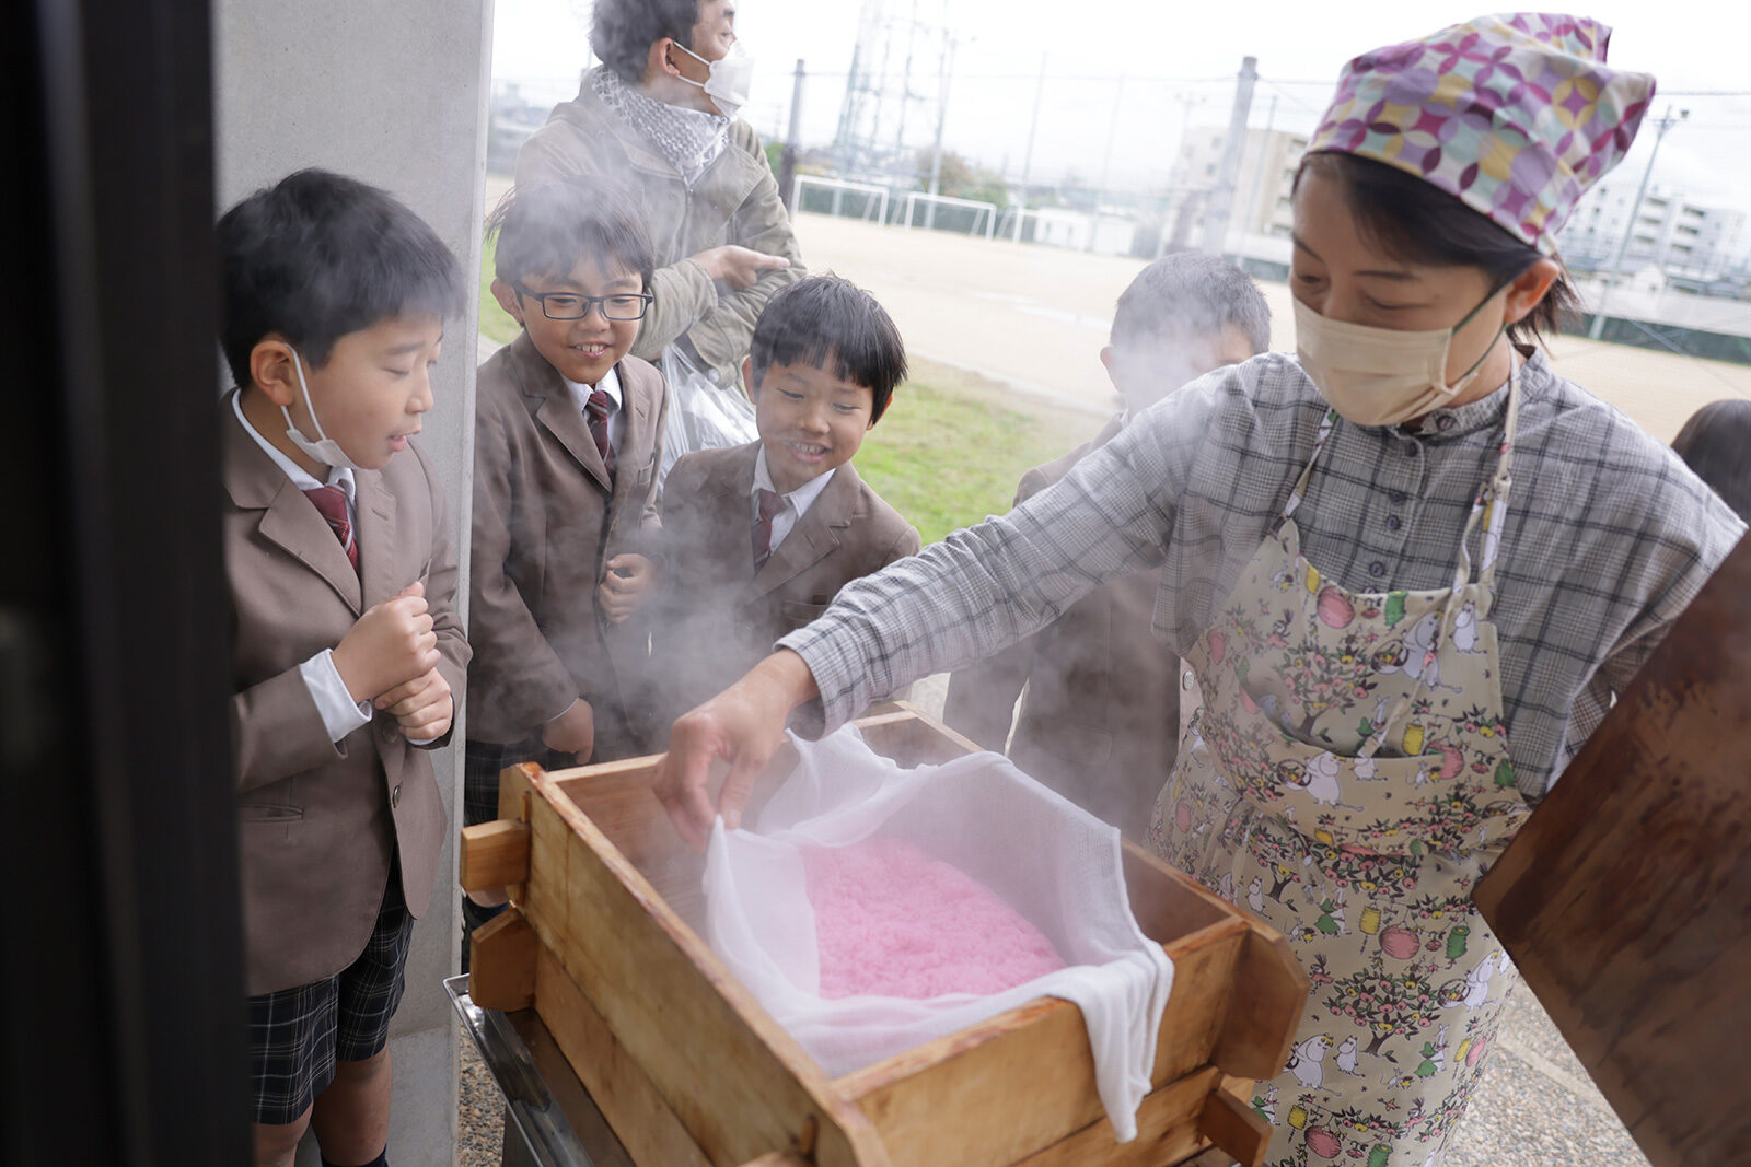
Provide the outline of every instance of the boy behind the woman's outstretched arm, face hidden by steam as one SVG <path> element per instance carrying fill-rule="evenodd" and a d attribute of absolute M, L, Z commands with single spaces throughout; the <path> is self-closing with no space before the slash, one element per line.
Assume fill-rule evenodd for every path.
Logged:
<path fill-rule="evenodd" d="M 1143 268 L 1119 296 L 1100 353 L 1124 411 L 1093 441 L 1023 474 L 1016 502 L 1058 483 L 1166 394 L 1269 339 L 1264 296 L 1233 264 L 1185 252 Z M 1101 584 L 1045 630 L 956 672 L 944 705 L 951 726 L 986 749 L 1007 745 L 1024 773 L 1131 838 L 1143 836 L 1178 752 L 1180 670 L 1150 630 L 1157 584 L 1159 570 Z"/>

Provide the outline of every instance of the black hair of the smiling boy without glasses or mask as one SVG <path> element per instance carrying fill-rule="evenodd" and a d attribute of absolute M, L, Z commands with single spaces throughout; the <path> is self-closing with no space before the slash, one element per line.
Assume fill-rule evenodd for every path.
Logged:
<path fill-rule="evenodd" d="M 876 395 L 870 425 L 881 420 L 893 387 L 905 380 L 905 343 L 888 311 L 851 280 L 816 275 L 767 301 L 755 325 L 753 387 L 774 366 L 812 364 Z M 753 388 L 751 387 L 751 388 Z"/>

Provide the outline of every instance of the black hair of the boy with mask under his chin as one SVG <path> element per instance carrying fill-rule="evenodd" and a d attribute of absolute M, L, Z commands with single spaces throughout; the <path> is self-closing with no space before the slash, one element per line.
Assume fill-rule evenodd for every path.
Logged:
<path fill-rule="evenodd" d="M 397 317 L 455 317 L 462 266 L 424 219 L 387 191 L 327 170 L 299 170 L 256 191 L 215 227 L 219 343 L 238 385 L 249 355 L 277 332 L 312 367 L 334 341 Z"/>

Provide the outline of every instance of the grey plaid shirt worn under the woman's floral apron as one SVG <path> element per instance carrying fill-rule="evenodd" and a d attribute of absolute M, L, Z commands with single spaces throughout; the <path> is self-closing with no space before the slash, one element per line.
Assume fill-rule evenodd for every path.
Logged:
<path fill-rule="evenodd" d="M 1520 376 L 1490 619 L 1516 780 L 1539 798 L 1746 528 L 1543 353 Z M 1340 422 L 1294 516 L 1306 558 L 1350 591 L 1446 588 L 1506 399 L 1436 409 L 1417 430 Z M 779 642 L 823 695 L 797 728 L 833 730 L 876 693 L 989 656 L 1152 555 L 1156 633 L 1184 654 L 1276 521 L 1324 413 L 1285 353 L 1219 369 L 1010 514 L 846 588 Z"/>

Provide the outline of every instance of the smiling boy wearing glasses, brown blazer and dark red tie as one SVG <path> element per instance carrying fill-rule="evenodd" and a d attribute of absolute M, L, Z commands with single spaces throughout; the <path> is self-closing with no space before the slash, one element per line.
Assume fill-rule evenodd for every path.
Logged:
<path fill-rule="evenodd" d="M 466 824 L 497 817 L 504 766 L 643 745 L 627 698 L 646 663 L 665 409 L 662 376 L 629 355 L 653 254 L 625 199 L 576 178 L 520 185 L 489 233 L 492 294 L 524 331 L 475 390 Z"/>

